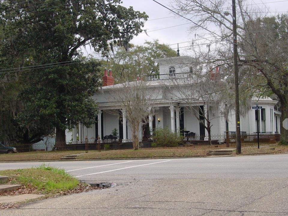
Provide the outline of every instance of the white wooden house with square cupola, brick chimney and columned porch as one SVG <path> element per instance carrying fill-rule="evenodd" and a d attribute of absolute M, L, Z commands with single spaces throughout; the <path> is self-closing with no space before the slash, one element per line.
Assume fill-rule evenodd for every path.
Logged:
<path fill-rule="evenodd" d="M 207 136 L 207 131 L 204 126 L 199 123 L 196 117 L 187 109 L 187 104 L 179 101 L 173 97 L 171 92 L 167 91 L 167 88 L 171 88 L 173 91 L 173 85 L 169 80 L 177 78 L 182 74 L 189 73 L 193 69 L 197 68 L 197 62 L 194 58 L 189 56 L 177 56 L 171 58 L 155 59 L 159 64 L 160 75 L 150 76 L 148 79 L 149 85 L 147 88 L 153 88 L 154 92 L 158 92 L 157 100 L 153 103 L 155 113 L 149 115 L 149 122 L 146 125 L 140 124 L 139 137 L 140 141 L 147 135 L 147 128 L 157 127 L 169 127 L 171 131 L 187 130 L 196 133 L 196 136 Z M 129 128 L 129 121 L 125 117 L 125 110 L 119 104 L 115 103 L 111 99 L 113 94 L 114 78 L 112 71 L 107 74 L 107 70 L 104 72 L 103 82 L 104 86 L 92 97 L 99 106 L 98 118 L 95 119 L 95 124 L 91 128 L 86 128 L 79 123 L 79 141 L 85 141 L 85 137 L 88 140 L 94 140 L 96 137 L 100 137 L 100 140 L 104 136 L 110 135 L 113 128 L 119 131 L 119 139 L 122 142 L 131 140 L 131 130 Z M 171 85 L 171 86 L 170 86 Z M 258 101 L 259 106 L 263 109 L 259 112 L 261 132 L 275 132 L 280 133 L 280 115 L 281 113 L 274 110 L 277 101 L 271 98 L 253 98 L 253 104 Z M 201 106 L 201 104 L 199 104 Z M 255 105 L 254 105 L 255 106 Z M 205 110 L 204 104 L 201 107 Z M 233 110 L 229 112 L 228 119 L 221 115 L 221 109 L 223 106 L 213 107 L 210 111 L 210 115 L 217 116 L 212 119 L 211 128 L 212 135 L 224 134 L 226 130 L 236 131 L 235 129 L 235 113 Z M 245 131 L 247 134 L 253 134 L 257 131 L 255 110 L 252 107 L 247 112 L 246 116 L 241 116 L 241 131 Z M 76 140 L 77 130 L 73 129 L 73 140 Z"/>

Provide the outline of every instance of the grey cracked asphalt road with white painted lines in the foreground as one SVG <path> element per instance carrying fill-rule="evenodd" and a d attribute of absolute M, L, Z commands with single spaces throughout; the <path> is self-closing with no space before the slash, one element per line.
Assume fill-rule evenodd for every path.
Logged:
<path fill-rule="evenodd" d="M 0 169 L 41 164 L 0 163 Z M 288 155 L 49 165 L 86 182 L 117 186 L 32 202 L 0 215 L 288 215 Z"/>

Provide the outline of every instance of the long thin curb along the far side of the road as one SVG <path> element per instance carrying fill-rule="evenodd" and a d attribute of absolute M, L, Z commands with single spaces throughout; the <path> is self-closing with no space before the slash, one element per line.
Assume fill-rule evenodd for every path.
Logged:
<path fill-rule="evenodd" d="M 281 154 L 261 154 L 261 155 L 286 155 Z M 199 156 L 199 157 L 170 157 L 170 158 L 104 158 L 104 159 L 80 159 L 80 160 L 46 160 L 46 161 L 0 161 L 0 163 L 21 163 L 21 162 L 56 162 L 56 161 L 127 161 L 127 160 L 153 160 L 153 159 L 181 159 L 181 158 L 223 158 L 223 157 L 243 157 L 243 156 L 257 156 L 257 155 L 220 155 L 220 156 Z"/>

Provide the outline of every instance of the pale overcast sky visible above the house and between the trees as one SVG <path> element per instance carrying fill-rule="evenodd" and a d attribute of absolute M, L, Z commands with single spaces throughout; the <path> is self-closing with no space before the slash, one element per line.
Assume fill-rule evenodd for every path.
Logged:
<path fill-rule="evenodd" d="M 146 40 L 153 41 L 154 39 L 158 39 L 161 43 L 176 44 L 176 45 L 171 45 L 170 47 L 177 48 L 177 43 L 181 43 L 179 44 L 179 47 L 182 47 L 182 46 L 184 47 L 189 44 L 183 43 L 183 42 L 190 41 L 191 38 L 194 38 L 195 32 L 190 33 L 188 31 L 188 28 L 190 26 L 188 20 L 182 17 L 175 17 L 175 14 L 173 14 L 168 9 L 162 7 L 161 5 L 157 4 L 156 2 L 152 0 L 122 0 L 122 1 L 123 1 L 123 6 L 125 7 L 132 6 L 134 10 L 139 10 L 140 12 L 145 11 L 149 16 L 148 21 L 145 23 L 145 26 L 144 26 L 144 29 L 147 29 L 149 36 L 147 36 L 145 33 L 141 33 L 140 35 L 135 36 L 133 40 L 131 41 L 131 43 L 141 45 Z M 281 2 L 275 2 L 275 1 L 281 1 Z M 158 0 L 158 2 L 169 7 L 170 2 L 172 1 Z M 230 0 L 228 2 L 230 2 Z M 268 3 L 268 2 L 273 2 L 273 3 Z M 264 5 L 262 3 L 267 3 L 267 4 Z M 277 12 L 288 11 L 288 0 L 287 1 L 248 0 L 247 4 L 255 4 L 253 6 L 259 9 L 259 11 L 269 10 L 273 15 L 276 14 L 274 13 L 275 11 Z M 172 17 L 169 17 L 169 16 L 172 16 Z M 191 16 L 190 17 L 187 16 L 187 17 L 191 18 Z M 169 18 L 159 19 L 163 17 L 169 17 Z M 152 20 L 152 19 L 156 19 L 156 20 Z M 177 25 L 180 25 L 180 26 L 177 26 Z M 175 27 L 172 27 L 172 26 L 175 26 Z M 167 28 L 167 29 L 164 29 L 164 28 Z M 213 31 L 213 27 L 210 30 Z M 214 29 L 214 31 L 217 31 L 217 29 Z M 180 48 L 180 53 L 187 54 L 187 52 L 185 51 L 185 48 L 182 48 L 182 49 Z"/>

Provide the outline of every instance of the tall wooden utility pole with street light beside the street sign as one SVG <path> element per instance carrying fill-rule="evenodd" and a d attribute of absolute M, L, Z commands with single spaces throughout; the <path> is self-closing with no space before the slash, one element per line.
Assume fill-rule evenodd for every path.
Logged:
<path fill-rule="evenodd" d="M 231 15 L 224 11 L 225 16 Z M 241 154 L 240 134 L 240 108 L 239 108 L 239 81 L 238 81 L 238 50 L 237 50 L 237 24 L 236 24 L 236 3 L 232 0 L 232 24 L 233 24 L 233 58 L 234 58 L 234 82 L 235 82 L 235 122 L 236 122 L 236 154 Z"/>

